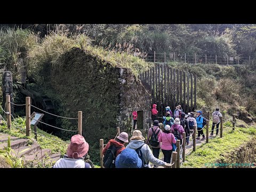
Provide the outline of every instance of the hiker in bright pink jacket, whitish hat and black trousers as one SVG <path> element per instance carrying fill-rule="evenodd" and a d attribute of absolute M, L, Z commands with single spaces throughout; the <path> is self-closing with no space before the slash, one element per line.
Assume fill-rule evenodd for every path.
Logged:
<path fill-rule="evenodd" d="M 164 162 L 171 163 L 171 157 L 172 157 L 172 144 L 176 143 L 176 140 L 174 138 L 174 135 L 170 132 L 171 126 L 165 125 L 164 131 L 158 138 L 159 142 L 162 142 L 161 150 L 164 154 Z"/>

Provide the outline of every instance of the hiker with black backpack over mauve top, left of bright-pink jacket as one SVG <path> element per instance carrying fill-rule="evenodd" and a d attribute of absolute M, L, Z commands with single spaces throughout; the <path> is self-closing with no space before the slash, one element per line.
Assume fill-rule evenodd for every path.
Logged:
<path fill-rule="evenodd" d="M 150 144 L 152 147 L 153 155 L 156 158 L 159 158 L 160 153 L 160 142 L 158 141 L 159 135 L 162 134 L 162 130 L 160 129 L 159 122 L 157 120 L 154 121 L 153 127 L 150 127 L 148 130 L 148 137 L 146 140 L 146 144 Z M 157 167 L 154 165 L 154 167 Z"/>

